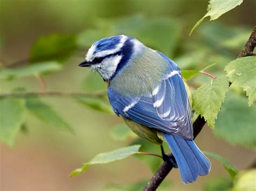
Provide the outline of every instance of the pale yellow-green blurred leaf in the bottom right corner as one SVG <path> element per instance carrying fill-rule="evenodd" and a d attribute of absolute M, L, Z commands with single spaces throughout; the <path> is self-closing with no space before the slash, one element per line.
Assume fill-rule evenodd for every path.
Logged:
<path fill-rule="evenodd" d="M 251 191 L 255 190 L 256 169 L 250 169 L 239 173 L 237 179 L 234 181 L 232 191 Z"/>

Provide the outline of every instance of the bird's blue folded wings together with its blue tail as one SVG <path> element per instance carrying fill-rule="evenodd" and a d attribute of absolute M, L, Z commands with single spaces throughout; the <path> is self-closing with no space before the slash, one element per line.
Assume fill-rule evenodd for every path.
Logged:
<path fill-rule="evenodd" d="M 108 96 L 111 106 L 119 116 L 131 119 L 150 128 L 158 129 L 176 158 L 181 180 L 196 181 L 211 168 L 210 161 L 199 150 L 193 139 L 190 104 L 180 69 L 170 58 L 159 53 L 170 63 L 167 77 L 149 91 L 148 96 L 126 97 L 111 87 Z"/>

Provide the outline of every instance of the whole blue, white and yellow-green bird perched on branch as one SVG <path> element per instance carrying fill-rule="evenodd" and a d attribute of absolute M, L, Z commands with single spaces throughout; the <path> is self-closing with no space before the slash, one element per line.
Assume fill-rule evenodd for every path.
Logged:
<path fill-rule="evenodd" d="M 162 143 L 167 142 L 175 158 L 169 162 L 178 166 L 184 183 L 210 172 L 210 161 L 193 141 L 190 91 L 169 57 L 120 35 L 96 41 L 79 66 L 103 77 L 113 111 L 138 136 L 159 144 L 166 161 Z"/>

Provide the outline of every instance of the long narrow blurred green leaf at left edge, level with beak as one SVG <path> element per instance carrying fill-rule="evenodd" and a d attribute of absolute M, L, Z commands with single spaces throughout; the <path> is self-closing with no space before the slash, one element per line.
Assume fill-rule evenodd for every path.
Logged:
<path fill-rule="evenodd" d="M 0 70 L 0 79 L 13 79 L 37 74 L 46 74 L 60 70 L 62 66 L 56 61 L 38 62 L 36 65 L 27 65 L 19 68 L 4 68 Z"/>

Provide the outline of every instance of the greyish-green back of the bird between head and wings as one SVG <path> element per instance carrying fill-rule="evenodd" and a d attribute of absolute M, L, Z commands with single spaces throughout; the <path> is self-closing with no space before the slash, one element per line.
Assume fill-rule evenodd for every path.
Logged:
<path fill-rule="evenodd" d="M 163 56 L 144 46 L 113 77 L 110 86 L 123 96 L 145 96 L 163 80 L 169 66 Z"/>

